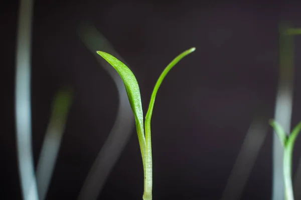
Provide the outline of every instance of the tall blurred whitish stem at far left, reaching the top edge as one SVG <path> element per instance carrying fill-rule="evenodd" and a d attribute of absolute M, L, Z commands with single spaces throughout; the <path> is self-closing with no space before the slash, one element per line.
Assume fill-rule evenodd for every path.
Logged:
<path fill-rule="evenodd" d="M 16 49 L 16 139 L 24 200 L 38 199 L 31 127 L 31 32 L 33 0 L 20 0 Z"/>

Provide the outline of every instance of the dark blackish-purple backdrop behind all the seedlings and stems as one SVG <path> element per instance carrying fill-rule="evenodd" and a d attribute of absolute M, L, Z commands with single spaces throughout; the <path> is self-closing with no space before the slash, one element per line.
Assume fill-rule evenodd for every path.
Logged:
<path fill-rule="evenodd" d="M 36 0 L 32 42 L 32 125 L 35 164 L 62 85 L 73 103 L 47 199 L 76 199 L 114 123 L 114 81 L 78 36 L 85 21 L 129 64 L 146 112 L 165 66 L 181 60 L 159 89 L 153 119 L 154 199 L 220 199 L 255 116 L 274 116 L 278 81 L 278 25 L 301 27 L 297 1 Z M 4 118 L 0 134 L 1 199 L 21 199 L 14 88 L 19 1 L 0 6 Z M 102 49 L 99 49 L 102 50 Z M 300 119 L 301 38 L 295 37 L 292 126 Z M 271 197 L 271 138 L 255 160 L 241 199 Z M 293 171 L 301 156 L 294 148 Z M 135 128 L 98 199 L 141 199 L 143 168 Z"/>

